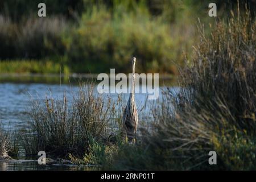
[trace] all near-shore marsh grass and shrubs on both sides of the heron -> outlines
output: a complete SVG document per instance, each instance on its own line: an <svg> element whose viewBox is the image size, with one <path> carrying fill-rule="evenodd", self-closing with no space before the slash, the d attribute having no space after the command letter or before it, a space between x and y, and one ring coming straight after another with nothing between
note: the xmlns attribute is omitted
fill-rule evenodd
<svg viewBox="0 0 256 182"><path fill-rule="evenodd" d="M44 150L108 170L255 169L255 31L254 16L239 7L216 20L209 35L200 24L200 41L179 70L180 93L175 97L166 87L162 101L139 112L135 146L121 137L122 98L94 95L90 82L81 83L73 101L64 93L63 100L32 102L29 130L20 131L19 142L27 155ZM15 148L7 144L0 130L2 154ZM216 151L218 165L209 165L209 151Z"/></svg>

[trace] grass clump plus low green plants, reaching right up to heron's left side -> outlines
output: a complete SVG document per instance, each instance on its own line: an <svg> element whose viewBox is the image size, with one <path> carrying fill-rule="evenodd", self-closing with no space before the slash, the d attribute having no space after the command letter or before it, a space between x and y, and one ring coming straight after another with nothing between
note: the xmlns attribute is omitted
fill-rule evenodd
<svg viewBox="0 0 256 182"><path fill-rule="evenodd" d="M73 101L46 98L31 103L30 122L20 130L26 155L46 151L48 158L65 158L75 164L103 166L129 145L122 138L123 98L113 102L94 92L94 82L80 83ZM141 111L144 107L142 107ZM141 127L147 127L143 116ZM138 138L140 136L138 135Z"/></svg>

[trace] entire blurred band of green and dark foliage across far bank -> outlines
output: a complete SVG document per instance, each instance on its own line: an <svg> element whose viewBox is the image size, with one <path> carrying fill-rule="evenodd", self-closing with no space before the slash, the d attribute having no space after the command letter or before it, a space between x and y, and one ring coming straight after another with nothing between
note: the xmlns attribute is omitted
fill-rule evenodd
<svg viewBox="0 0 256 182"><path fill-rule="evenodd" d="M39 18L38 3L47 17ZM217 1L218 15L236 6ZM241 2L243 6L245 1ZM246 1L247 2L247 1ZM208 24L210 1L192 0L3 0L0 1L0 60L51 59L71 72L176 73L183 51L197 42L197 17ZM255 1L249 1L255 10ZM4 69L3 69L3 72Z"/></svg>

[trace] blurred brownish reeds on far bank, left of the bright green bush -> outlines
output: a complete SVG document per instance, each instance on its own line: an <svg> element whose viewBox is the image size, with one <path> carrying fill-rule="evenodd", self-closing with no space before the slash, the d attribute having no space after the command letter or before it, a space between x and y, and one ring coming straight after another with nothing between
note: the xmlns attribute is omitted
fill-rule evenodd
<svg viewBox="0 0 256 182"><path fill-rule="evenodd" d="M68 23L55 16L19 24L0 15L0 59L44 59L65 52L62 41Z"/></svg>

